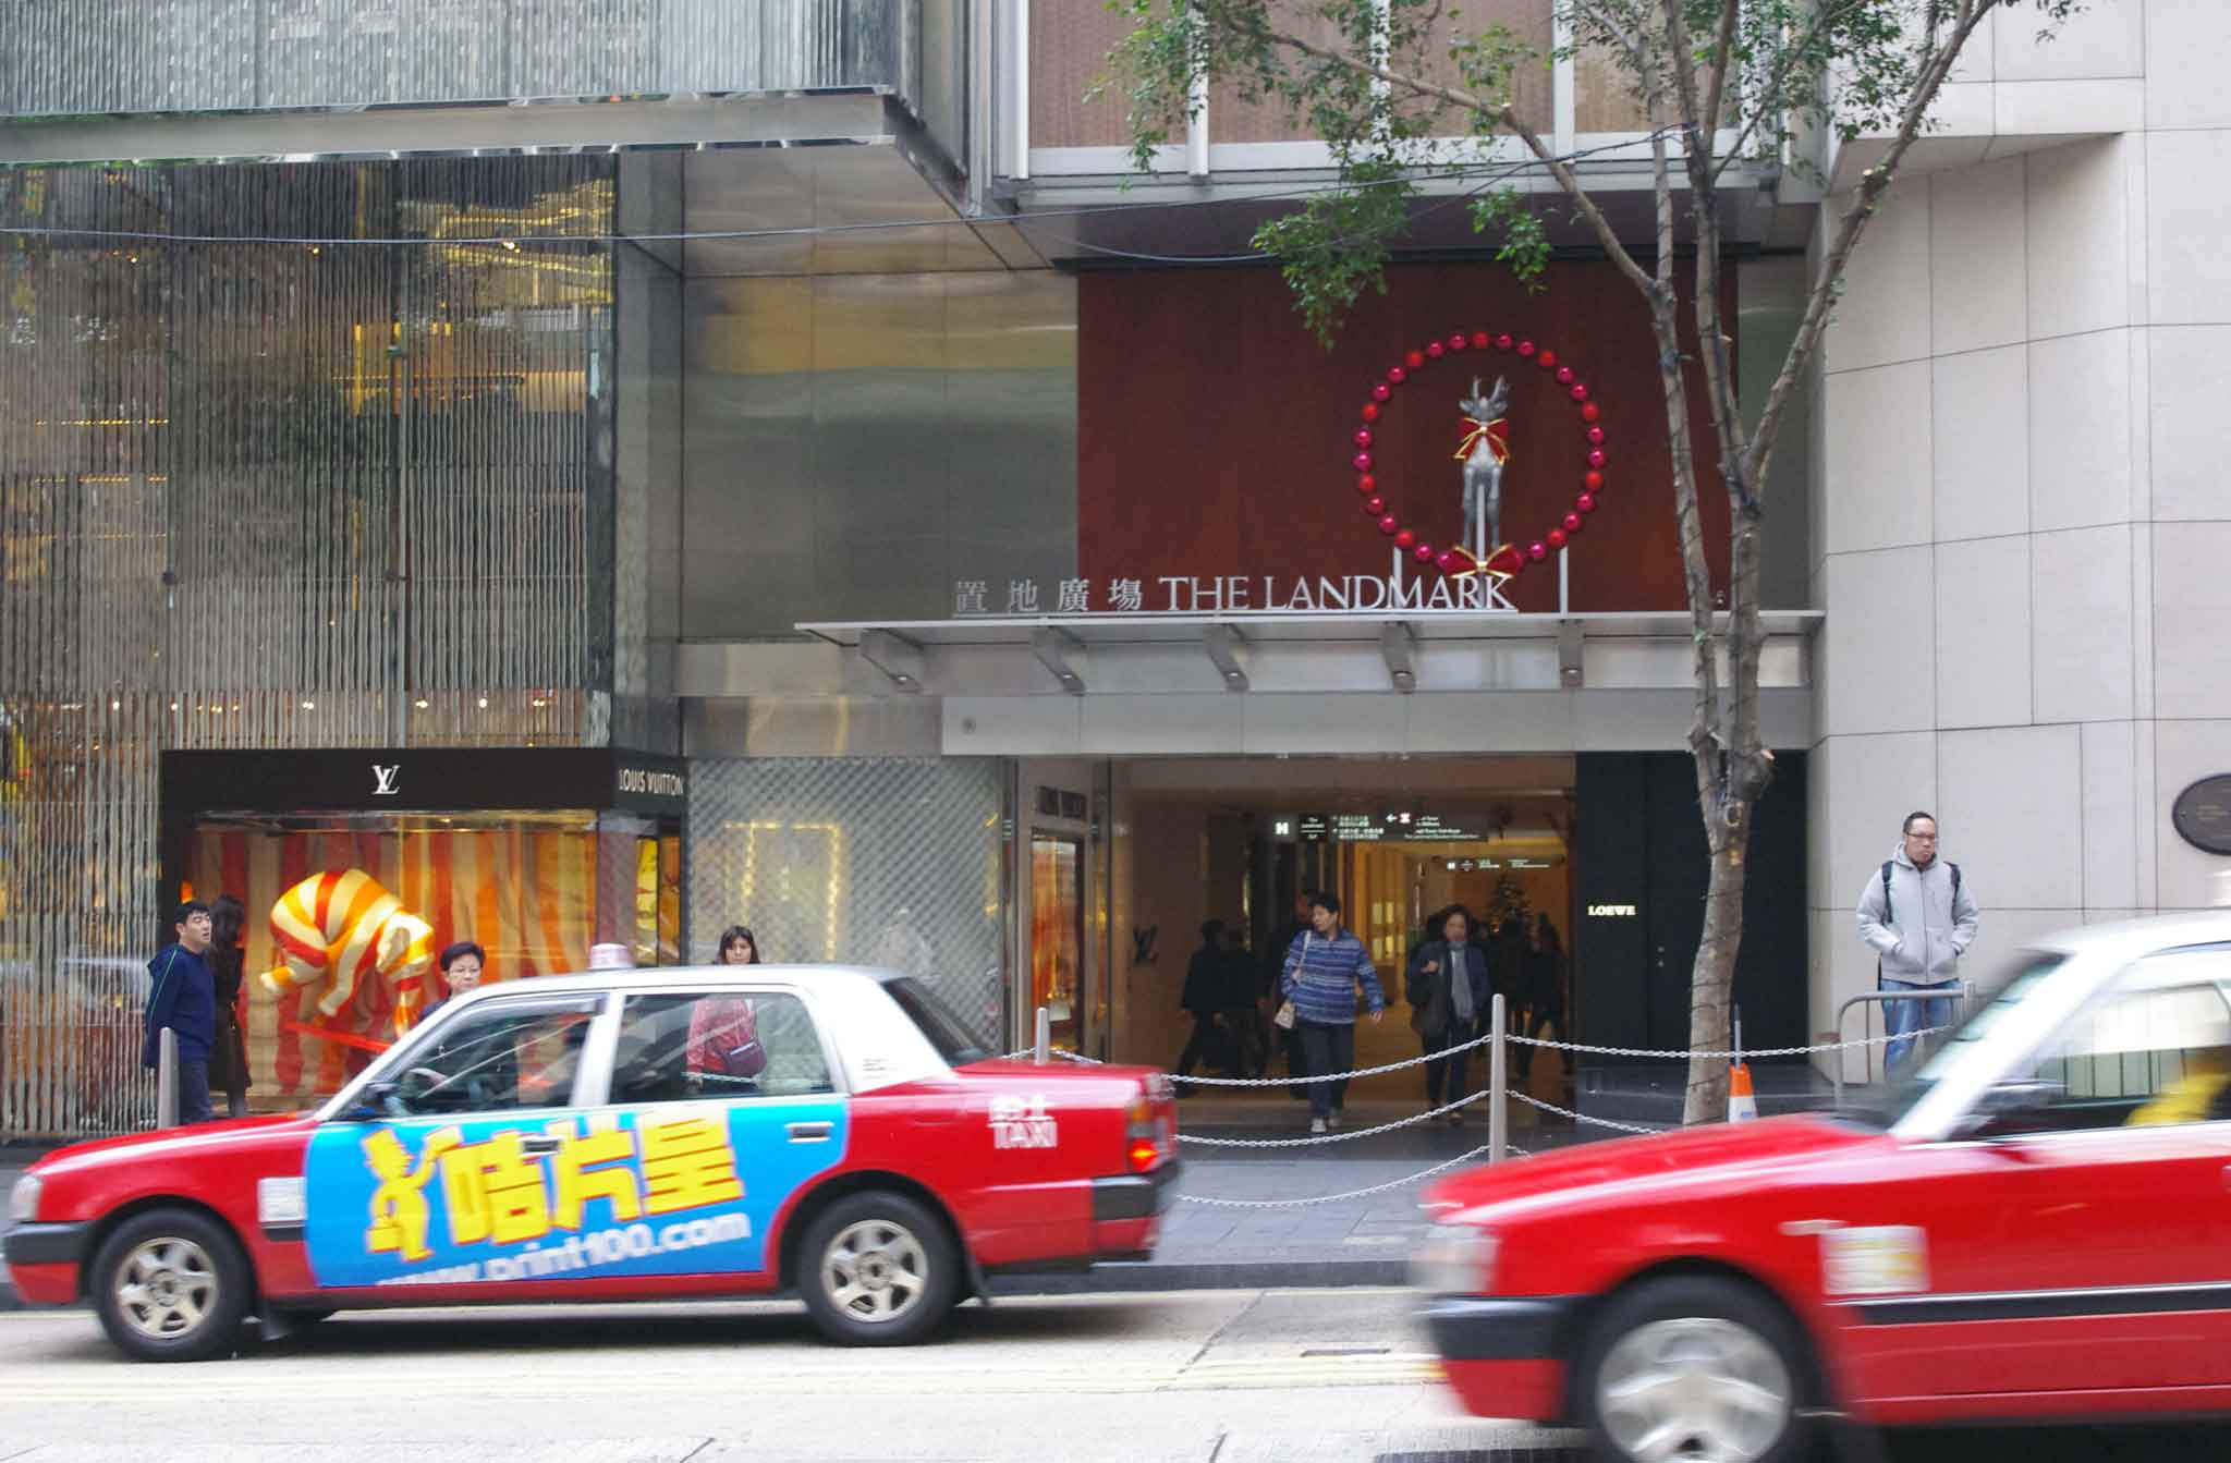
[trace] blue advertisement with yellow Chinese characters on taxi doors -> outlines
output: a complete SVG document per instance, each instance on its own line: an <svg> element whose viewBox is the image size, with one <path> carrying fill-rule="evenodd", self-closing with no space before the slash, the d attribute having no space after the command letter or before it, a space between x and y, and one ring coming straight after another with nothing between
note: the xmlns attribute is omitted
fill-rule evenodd
<svg viewBox="0 0 2231 1463"><path fill-rule="evenodd" d="M750 1273L843 1160L841 1097L332 1122L310 1140L323 1287Z"/></svg>

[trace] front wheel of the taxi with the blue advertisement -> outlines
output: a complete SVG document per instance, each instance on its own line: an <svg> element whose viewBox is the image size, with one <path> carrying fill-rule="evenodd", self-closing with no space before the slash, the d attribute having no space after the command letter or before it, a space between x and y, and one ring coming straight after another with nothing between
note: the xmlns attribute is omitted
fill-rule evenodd
<svg viewBox="0 0 2231 1463"><path fill-rule="evenodd" d="M248 1260L232 1233L190 1209L116 1227L87 1280L100 1329L134 1360L210 1360L248 1316Z"/></svg>

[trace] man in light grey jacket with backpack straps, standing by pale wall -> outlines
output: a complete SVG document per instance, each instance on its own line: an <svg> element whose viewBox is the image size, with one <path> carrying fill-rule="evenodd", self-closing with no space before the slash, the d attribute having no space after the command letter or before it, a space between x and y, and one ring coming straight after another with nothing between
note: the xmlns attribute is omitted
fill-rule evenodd
<svg viewBox="0 0 2231 1463"><path fill-rule="evenodd" d="M1937 818L1916 812L1883 868L1858 894L1858 937L1879 957L1881 990L1941 990L1959 979L1959 957L1974 943L1981 919L1959 865L1937 856ZM1883 1001L1883 1030L1892 1037L1883 1070L1894 1073L1914 1046L1914 1033L1952 1021L1952 997Z"/></svg>

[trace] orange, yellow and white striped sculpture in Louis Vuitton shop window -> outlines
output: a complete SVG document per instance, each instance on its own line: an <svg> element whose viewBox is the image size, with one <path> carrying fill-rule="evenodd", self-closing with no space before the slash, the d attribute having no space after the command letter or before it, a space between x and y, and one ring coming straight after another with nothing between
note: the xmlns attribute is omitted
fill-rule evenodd
<svg viewBox="0 0 2231 1463"><path fill-rule="evenodd" d="M272 905L272 943L279 963L263 972L272 995L328 979L317 1010L328 1021L373 975L395 988L395 1030L411 1030L426 1004L433 963L433 926L402 908L395 894L364 870L310 874Z"/></svg>

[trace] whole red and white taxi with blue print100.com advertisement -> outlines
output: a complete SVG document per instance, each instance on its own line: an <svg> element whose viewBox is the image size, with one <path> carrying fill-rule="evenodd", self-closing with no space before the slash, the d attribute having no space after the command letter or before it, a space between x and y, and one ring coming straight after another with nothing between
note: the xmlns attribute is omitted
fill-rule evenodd
<svg viewBox="0 0 2231 1463"><path fill-rule="evenodd" d="M1151 1251L1169 1079L993 1059L910 977L727 966L489 986L323 1108L60 1149L7 1267L143 1360L337 1309L796 1289L910 1343L999 1269Z"/></svg>

